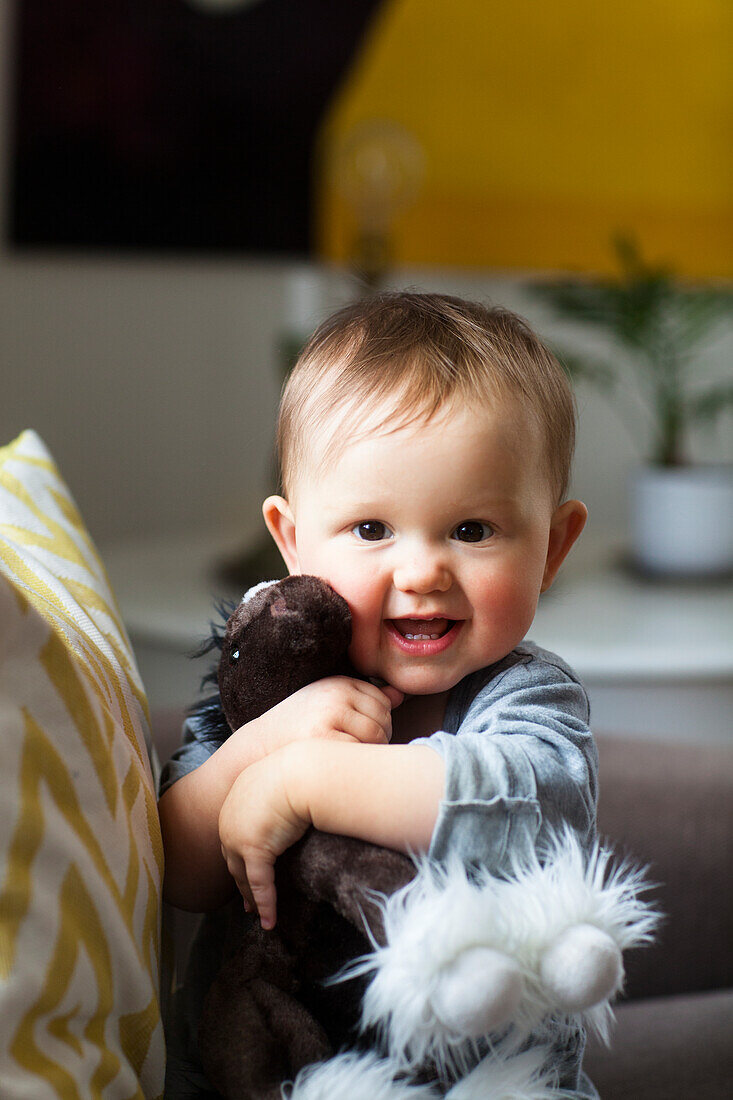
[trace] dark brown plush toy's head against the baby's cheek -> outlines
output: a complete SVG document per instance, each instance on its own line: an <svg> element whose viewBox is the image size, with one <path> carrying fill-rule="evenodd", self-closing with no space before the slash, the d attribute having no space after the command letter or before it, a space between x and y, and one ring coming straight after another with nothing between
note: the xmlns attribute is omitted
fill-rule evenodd
<svg viewBox="0 0 733 1100"><path fill-rule="evenodd" d="M319 578L286 576L250 588L211 644L221 648L216 681L229 728L314 680L354 675L350 641L349 605Z"/></svg>

